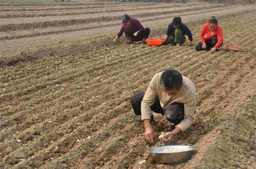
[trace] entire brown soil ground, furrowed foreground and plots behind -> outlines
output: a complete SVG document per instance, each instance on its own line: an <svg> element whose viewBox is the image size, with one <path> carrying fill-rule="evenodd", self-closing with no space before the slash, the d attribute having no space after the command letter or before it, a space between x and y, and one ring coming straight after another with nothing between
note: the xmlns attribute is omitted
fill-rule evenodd
<svg viewBox="0 0 256 169"><path fill-rule="evenodd" d="M44 4L54 6L26 8ZM124 38L113 43L121 12L102 21L112 24L103 32L98 23L76 18L72 24L61 19L29 23L24 18L24 23L3 24L1 38L11 38L0 40L0 168L255 168L255 6L188 5L182 8L194 10L179 13L170 7L164 8L170 14L161 15L156 9L163 6L157 4L148 16L134 15L152 28L151 37L162 37L171 18L180 15L196 43L201 26L216 15L224 31L219 52L196 52L189 42L180 48L127 45ZM243 49L226 51L227 43ZM155 142L148 145L143 124L133 123L130 97L145 91L153 75L167 68L195 82L196 118L187 131L163 144L158 135L170 124L156 114ZM197 150L187 162L160 165L146 149L163 145L194 145ZM139 164L141 160L146 162Z"/></svg>

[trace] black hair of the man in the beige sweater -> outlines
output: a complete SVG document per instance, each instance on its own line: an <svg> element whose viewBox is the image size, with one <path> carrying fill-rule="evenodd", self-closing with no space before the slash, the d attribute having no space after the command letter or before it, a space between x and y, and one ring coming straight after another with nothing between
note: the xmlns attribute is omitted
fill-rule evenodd
<svg viewBox="0 0 256 169"><path fill-rule="evenodd" d="M182 86L182 75L177 70L167 69L162 73L160 83L164 90L180 90Z"/></svg>

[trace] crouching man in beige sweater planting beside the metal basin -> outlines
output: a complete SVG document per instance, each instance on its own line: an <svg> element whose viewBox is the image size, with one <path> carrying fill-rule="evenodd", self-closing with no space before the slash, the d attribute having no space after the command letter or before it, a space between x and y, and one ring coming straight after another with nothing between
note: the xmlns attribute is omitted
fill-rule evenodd
<svg viewBox="0 0 256 169"><path fill-rule="evenodd" d="M170 132L164 133L163 142L169 142L184 132L194 121L196 111L196 87L187 77L176 70L165 70L154 75L144 93L132 96L131 103L138 117L135 122L144 122L145 137L153 144L154 131L151 111L162 114L171 123Z"/></svg>

